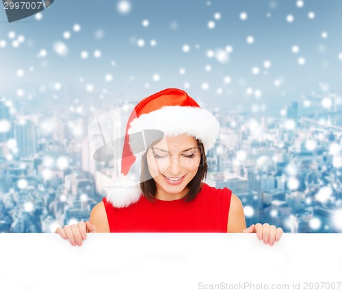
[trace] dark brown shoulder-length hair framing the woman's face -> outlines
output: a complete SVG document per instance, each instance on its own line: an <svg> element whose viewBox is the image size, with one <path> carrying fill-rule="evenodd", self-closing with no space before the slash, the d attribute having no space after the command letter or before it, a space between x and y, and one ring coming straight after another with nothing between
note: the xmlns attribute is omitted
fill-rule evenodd
<svg viewBox="0 0 342 292"><path fill-rule="evenodd" d="M205 156L205 148L203 143L196 139L198 148L200 149L200 164L198 165L198 171L194 178L187 184L189 190L183 197L185 202L190 202L196 198L196 195L200 192L202 187L202 182L207 178L207 171L208 171L208 164L207 164L207 157ZM155 141L151 147L157 144L159 141ZM150 148L148 148L150 149ZM142 156L142 172L140 176L140 188L142 193L146 197L146 199L150 201L155 201L155 197L157 195L157 185L155 184L155 180L150 175L150 171L148 171L148 164L147 164L147 152L144 153Z"/></svg>

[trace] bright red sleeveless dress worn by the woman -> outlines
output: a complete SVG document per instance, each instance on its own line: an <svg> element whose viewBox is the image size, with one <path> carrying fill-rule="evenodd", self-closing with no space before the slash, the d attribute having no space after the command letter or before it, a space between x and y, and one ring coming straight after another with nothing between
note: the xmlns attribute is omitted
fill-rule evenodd
<svg viewBox="0 0 342 292"><path fill-rule="evenodd" d="M144 196L127 208L103 198L110 232L227 232L231 190L202 184L196 199L150 202Z"/></svg>

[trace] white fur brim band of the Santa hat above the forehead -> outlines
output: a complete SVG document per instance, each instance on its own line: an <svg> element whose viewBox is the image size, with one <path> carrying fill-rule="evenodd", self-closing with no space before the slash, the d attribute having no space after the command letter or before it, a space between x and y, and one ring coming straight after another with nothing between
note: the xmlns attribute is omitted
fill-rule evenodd
<svg viewBox="0 0 342 292"><path fill-rule="evenodd" d="M161 130L165 136L188 134L199 139L207 152L215 144L218 137L219 123L209 111L192 106L163 106L131 121L128 134L146 129ZM130 145L133 153L137 153L134 145Z"/></svg>

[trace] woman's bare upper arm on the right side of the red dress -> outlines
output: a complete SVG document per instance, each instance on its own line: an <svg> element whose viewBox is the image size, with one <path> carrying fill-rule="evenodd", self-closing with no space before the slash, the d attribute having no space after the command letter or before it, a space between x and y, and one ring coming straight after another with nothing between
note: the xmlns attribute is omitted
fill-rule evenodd
<svg viewBox="0 0 342 292"><path fill-rule="evenodd" d="M240 199L232 193L227 231L229 233L242 233L242 230L244 229L246 229L244 207L242 206Z"/></svg>

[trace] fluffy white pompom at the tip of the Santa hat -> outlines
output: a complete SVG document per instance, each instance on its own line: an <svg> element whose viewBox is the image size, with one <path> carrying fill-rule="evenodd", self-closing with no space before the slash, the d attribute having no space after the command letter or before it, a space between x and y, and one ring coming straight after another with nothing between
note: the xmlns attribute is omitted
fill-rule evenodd
<svg viewBox="0 0 342 292"><path fill-rule="evenodd" d="M105 191L107 202L117 208L124 208L139 201L142 196L139 182L132 182L127 176L120 175Z"/></svg>

